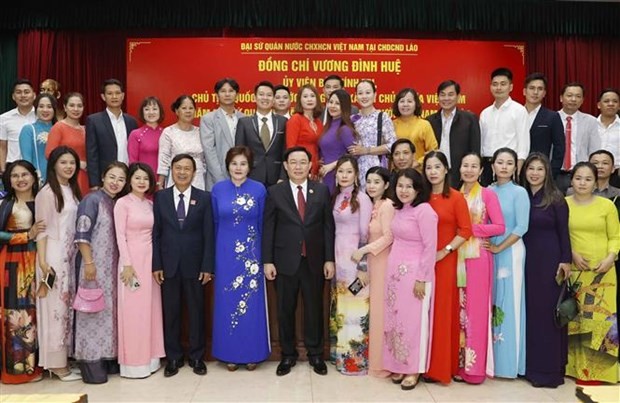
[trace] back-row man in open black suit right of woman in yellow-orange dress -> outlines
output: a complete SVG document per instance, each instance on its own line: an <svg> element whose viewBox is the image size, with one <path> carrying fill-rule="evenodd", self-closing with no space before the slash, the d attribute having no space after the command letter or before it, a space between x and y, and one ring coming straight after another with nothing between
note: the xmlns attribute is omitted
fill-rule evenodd
<svg viewBox="0 0 620 403"><path fill-rule="evenodd" d="M461 179L461 159L470 152L480 154L480 125L471 112L457 108L461 86L446 80L437 87L441 109L427 120L431 123L439 150L450 163L450 186L457 188Z"/></svg>

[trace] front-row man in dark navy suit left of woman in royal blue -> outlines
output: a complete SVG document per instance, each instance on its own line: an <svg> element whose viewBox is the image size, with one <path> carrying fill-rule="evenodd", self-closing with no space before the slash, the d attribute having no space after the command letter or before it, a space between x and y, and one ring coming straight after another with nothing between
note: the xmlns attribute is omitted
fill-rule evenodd
<svg viewBox="0 0 620 403"><path fill-rule="evenodd" d="M189 366L205 375L204 285L213 277L214 239L211 197L191 186L196 162L189 154L172 159L174 186L155 194L153 213L153 276L162 289L164 348L168 363L164 376L183 366L181 301L189 322Z"/></svg>

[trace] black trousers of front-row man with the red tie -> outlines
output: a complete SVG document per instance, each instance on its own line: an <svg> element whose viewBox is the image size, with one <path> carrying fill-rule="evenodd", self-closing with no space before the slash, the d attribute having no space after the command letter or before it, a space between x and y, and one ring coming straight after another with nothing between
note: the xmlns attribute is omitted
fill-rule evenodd
<svg viewBox="0 0 620 403"><path fill-rule="evenodd" d="M323 356L323 268L312 270L303 257L294 275L276 276L278 329L282 357L297 358L295 346L295 310L301 289L304 301L304 345L308 357Z"/></svg>

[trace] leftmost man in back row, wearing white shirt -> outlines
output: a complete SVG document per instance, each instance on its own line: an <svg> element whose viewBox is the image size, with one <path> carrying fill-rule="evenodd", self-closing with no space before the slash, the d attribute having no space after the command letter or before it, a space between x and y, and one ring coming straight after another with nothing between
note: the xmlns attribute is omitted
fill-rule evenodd
<svg viewBox="0 0 620 403"><path fill-rule="evenodd" d="M33 106L36 93L29 80L17 80L11 97L17 107L0 115L0 174L4 173L7 163L21 158L19 134L24 125L36 120Z"/></svg>

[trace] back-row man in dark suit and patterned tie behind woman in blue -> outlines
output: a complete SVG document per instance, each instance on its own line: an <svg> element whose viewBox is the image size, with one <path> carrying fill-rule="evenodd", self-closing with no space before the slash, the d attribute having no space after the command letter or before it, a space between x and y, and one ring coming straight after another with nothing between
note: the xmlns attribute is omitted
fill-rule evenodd
<svg viewBox="0 0 620 403"><path fill-rule="evenodd" d="M269 187L286 174L282 168L286 150L286 118L272 112L273 84L261 81L254 87L256 113L239 119L236 146L248 146L254 153L250 178Z"/></svg>

